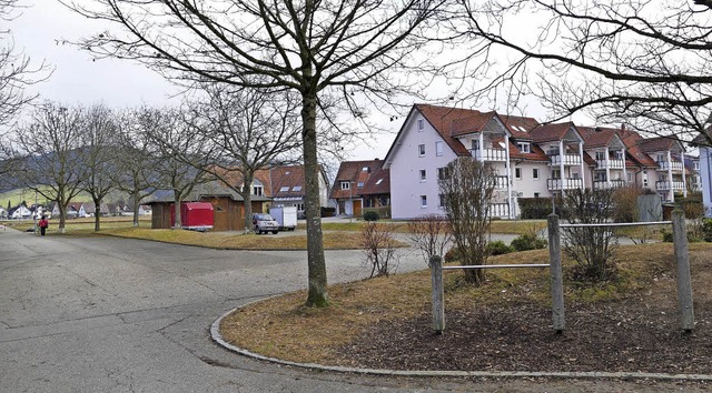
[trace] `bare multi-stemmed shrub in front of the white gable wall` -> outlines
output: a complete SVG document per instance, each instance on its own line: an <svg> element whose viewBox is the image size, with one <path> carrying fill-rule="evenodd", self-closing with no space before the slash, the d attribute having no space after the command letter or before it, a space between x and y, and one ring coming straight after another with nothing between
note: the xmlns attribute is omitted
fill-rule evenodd
<svg viewBox="0 0 712 393"><path fill-rule="evenodd" d="M487 238L492 222L488 208L496 184L492 168L469 157L461 157L446 167L447 174L438 180L447 220L453 231L463 265L487 264ZM465 280L479 285L485 280L483 269L466 269Z"/></svg>

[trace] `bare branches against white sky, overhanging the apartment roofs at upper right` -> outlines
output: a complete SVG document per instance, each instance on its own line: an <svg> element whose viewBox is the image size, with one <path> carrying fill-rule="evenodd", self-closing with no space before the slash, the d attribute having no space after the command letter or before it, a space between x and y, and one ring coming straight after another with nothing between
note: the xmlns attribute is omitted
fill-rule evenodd
<svg viewBox="0 0 712 393"><path fill-rule="evenodd" d="M710 1L462 3L466 28L453 27L475 39L472 70L492 77L477 93L508 85L516 97L538 97L557 119L584 111L688 140L712 125ZM512 59L505 70L503 52Z"/></svg>

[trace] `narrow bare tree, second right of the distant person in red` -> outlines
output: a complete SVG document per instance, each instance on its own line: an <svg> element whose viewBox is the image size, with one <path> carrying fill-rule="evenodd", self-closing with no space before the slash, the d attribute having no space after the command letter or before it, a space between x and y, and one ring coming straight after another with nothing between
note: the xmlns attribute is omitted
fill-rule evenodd
<svg viewBox="0 0 712 393"><path fill-rule="evenodd" d="M93 230L99 231L101 202L116 188L112 172L117 170L115 115L103 104L89 108L86 112L85 128L80 130L83 147L78 151L86 177L81 190L91 195L95 205Z"/></svg>

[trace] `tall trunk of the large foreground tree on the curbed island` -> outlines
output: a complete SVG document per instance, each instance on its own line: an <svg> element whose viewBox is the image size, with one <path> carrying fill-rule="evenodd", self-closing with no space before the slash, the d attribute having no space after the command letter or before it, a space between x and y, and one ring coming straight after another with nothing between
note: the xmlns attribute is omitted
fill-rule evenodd
<svg viewBox="0 0 712 393"><path fill-rule="evenodd" d="M319 164L316 141L316 89L301 94L301 141L304 143L304 171L306 180L305 210L307 215L307 263L309 292L307 306L328 305L326 292L326 259L322 233L319 205Z"/></svg>

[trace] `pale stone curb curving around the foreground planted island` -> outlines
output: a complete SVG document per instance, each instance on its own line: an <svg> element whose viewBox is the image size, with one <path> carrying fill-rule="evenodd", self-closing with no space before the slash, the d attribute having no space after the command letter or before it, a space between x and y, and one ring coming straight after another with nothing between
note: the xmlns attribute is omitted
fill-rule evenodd
<svg viewBox="0 0 712 393"><path fill-rule="evenodd" d="M263 299L264 300L264 299ZM258 300L258 301L263 301ZM258 302L255 301L255 302ZM235 308L225 314L220 315L210 326L210 337L218 345L225 347L228 351L238 353L244 356L253 357L256 360L290 365L295 367L318 370L318 371L332 371L339 373L355 373L364 375L384 375L384 376L475 376L475 377L554 377L554 379L612 379L612 380L657 380L657 381L712 381L712 375L709 374L666 374L666 373L643 373L643 372L534 372L534 371L405 371L405 370L384 370L384 369L356 369L356 367L343 367L335 365L324 365L317 363L298 363L285 361L281 359L269 357L260 355L258 353L250 352L243 347L233 345L222 339L220 334L220 323L225 318L239 310L240 308L251 304L254 302L246 303L241 306Z"/></svg>

